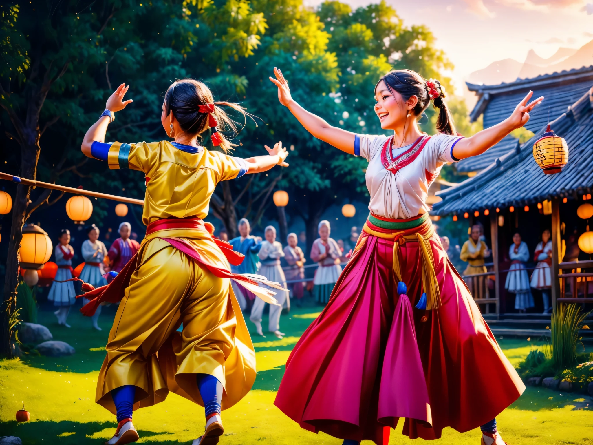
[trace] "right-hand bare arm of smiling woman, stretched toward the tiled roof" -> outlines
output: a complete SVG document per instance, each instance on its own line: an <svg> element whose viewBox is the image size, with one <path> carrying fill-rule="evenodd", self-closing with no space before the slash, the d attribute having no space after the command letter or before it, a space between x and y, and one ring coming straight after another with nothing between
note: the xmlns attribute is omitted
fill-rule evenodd
<svg viewBox="0 0 593 445"><path fill-rule="evenodd" d="M530 104L527 104L531 96L533 96L533 91L527 93L527 96L515 107L515 111L512 112L511 116L499 124L483 129L470 138L461 139L453 148L453 156L457 159L465 159L482 154L514 129L525 126L529 120L529 112L537 104L540 104L544 98L540 96L534 101L531 101Z"/></svg>

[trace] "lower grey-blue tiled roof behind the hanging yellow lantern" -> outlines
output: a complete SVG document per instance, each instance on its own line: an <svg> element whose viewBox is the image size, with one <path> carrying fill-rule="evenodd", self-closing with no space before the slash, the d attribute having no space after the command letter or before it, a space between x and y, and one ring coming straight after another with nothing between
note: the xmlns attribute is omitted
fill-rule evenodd
<svg viewBox="0 0 593 445"><path fill-rule="evenodd" d="M460 185L437 192L443 201L432 214L506 208L541 202L555 196L590 193L593 187L593 88L566 113L551 122L557 135L566 139L568 164L557 174L544 174L533 158L533 144L545 131L541 126L529 141L511 150L485 170Z"/></svg>

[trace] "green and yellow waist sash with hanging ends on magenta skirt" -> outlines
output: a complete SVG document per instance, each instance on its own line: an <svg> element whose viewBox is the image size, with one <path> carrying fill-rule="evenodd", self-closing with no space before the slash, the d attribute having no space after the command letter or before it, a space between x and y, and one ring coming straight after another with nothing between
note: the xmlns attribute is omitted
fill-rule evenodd
<svg viewBox="0 0 593 445"><path fill-rule="evenodd" d="M368 236L375 236L385 240L393 240L393 275L397 281L406 282L401 275L400 244L409 241L418 243L420 263L422 264L422 292L426 293L426 310L441 307L441 290L436 281L435 260L429 242L435 227L428 214L418 215L409 220L391 220L370 214L362 227L361 238L356 244L355 252L361 249Z"/></svg>

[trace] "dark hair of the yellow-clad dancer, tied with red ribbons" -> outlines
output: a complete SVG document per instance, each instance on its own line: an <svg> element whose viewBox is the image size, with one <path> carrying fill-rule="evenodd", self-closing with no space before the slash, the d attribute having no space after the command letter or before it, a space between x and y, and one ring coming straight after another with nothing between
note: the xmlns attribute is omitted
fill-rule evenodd
<svg viewBox="0 0 593 445"><path fill-rule="evenodd" d="M200 105L214 104L212 113L200 112ZM218 128L221 130L230 129L237 134L235 122L228 117L227 113L218 105L231 107L235 111L246 112L243 107L232 102L215 102L212 91L205 84L193 79L176 80L171 84L165 93L165 111L167 116L173 112L173 116L179 122L181 129L190 135L200 135L205 132L209 125L209 116L212 114L218 122ZM228 152L236 144L231 144L222 134L220 146L222 150Z"/></svg>

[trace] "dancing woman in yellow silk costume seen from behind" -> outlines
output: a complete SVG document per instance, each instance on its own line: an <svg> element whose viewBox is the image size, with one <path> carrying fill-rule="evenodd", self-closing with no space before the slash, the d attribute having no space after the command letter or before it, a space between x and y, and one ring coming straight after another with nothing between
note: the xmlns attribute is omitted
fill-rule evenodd
<svg viewBox="0 0 593 445"><path fill-rule="evenodd" d="M272 291L258 287L257 276L229 272L229 262L238 264L243 256L213 239L212 225L202 220L218 182L288 166L288 152L278 142L266 146L269 155L227 155L232 144L217 126L236 128L219 106L245 113L237 104L214 102L208 87L195 80L176 81L165 94L161 122L173 142L105 143L113 113L132 102L123 101L128 88L122 84L110 96L82 142L88 157L107 161L110 169L142 171L146 182L142 220L148 227L140 250L109 285L86 293L91 301L81 309L91 315L103 301L121 301L97 380L97 403L118 421L106 444L138 440L132 410L162 402L173 391L205 406L206 430L193 445L213 445L224 431L221 409L241 400L256 376L253 344L229 278L277 302ZM208 128L224 152L199 144ZM176 332L181 322L183 332Z"/></svg>

